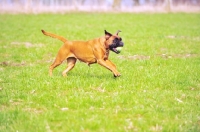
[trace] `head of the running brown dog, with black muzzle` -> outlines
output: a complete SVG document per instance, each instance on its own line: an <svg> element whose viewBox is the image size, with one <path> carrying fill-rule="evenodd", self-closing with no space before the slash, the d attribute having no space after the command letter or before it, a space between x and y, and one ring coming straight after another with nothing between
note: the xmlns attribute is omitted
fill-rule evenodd
<svg viewBox="0 0 200 132"><path fill-rule="evenodd" d="M105 30L106 47L117 54L120 53L120 51L117 50L117 47L124 46L124 43L122 42L122 38L118 36L119 32L121 31L118 30L116 34L112 35L111 33Z"/></svg>

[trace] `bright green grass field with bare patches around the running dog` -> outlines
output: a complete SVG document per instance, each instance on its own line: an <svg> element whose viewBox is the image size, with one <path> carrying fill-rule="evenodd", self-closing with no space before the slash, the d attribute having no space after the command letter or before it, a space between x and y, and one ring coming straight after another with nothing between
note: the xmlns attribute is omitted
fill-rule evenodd
<svg viewBox="0 0 200 132"><path fill-rule="evenodd" d="M200 14L0 15L1 132L200 131ZM48 75L62 43L122 32L122 74L78 62Z"/></svg>

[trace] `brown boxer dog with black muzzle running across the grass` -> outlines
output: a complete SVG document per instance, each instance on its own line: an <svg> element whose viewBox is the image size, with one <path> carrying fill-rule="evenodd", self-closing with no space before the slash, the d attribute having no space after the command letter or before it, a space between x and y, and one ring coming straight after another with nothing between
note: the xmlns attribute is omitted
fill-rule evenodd
<svg viewBox="0 0 200 132"><path fill-rule="evenodd" d="M116 34L112 35L105 30L105 36L103 37L88 41L69 41L62 36L42 30L44 35L57 38L64 43L58 51L55 61L49 67L50 76L52 76L55 67L67 60L67 68L62 72L62 75L66 76L78 59L88 65L98 63L113 72L114 77L119 77L120 73L117 71L116 66L108 59L109 50L118 54L119 51L116 48L124 46L121 37L118 36L119 32L118 30Z"/></svg>

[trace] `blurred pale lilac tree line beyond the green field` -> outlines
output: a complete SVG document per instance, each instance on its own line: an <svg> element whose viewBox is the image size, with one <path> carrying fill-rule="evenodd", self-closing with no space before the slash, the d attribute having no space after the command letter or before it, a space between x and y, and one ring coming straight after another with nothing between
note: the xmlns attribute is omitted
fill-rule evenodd
<svg viewBox="0 0 200 132"><path fill-rule="evenodd" d="M164 5L165 9L170 11L172 6L179 5L200 8L200 0L0 0L0 8L18 6L26 10L39 9L38 7L71 7L73 9L95 7L100 10L102 9L100 7L103 7L109 10L120 10L121 7L130 9L146 5L152 7Z"/></svg>

